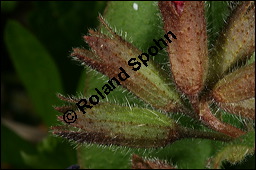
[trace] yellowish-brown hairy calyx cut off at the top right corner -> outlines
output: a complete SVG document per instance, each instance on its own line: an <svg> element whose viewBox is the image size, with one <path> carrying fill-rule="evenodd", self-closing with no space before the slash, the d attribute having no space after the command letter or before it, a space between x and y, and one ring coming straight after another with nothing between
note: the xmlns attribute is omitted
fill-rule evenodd
<svg viewBox="0 0 256 170"><path fill-rule="evenodd" d="M253 1L241 1L227 21L211 55L209 82L228 72L238 60L251 56L255 51L255 4Z"/></svg>

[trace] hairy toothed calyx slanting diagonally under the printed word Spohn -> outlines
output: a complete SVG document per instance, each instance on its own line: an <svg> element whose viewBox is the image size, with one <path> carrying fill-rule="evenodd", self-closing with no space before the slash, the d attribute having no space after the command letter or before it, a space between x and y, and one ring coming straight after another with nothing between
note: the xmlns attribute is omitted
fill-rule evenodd
<svg viewBox="0 0 256 170"><path fill-rule="evenodd" d="M90 30L91 35L84 38L93 52L75 48L71 55L110 78L117 78L122 68L126 73L126 79L119 81L122 86L155 108L179 110L182 104L178 92L150 61L150 56L112 32L102 18L100 21L113 37Z"/></svg>

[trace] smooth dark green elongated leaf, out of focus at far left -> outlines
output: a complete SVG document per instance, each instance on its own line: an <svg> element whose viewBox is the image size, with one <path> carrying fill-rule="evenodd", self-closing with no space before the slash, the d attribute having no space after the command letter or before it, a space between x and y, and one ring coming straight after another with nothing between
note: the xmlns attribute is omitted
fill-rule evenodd
<svg viewBox="0 0 256 170"><path fill-rule="evenodd" d="M36 37L16 21L8 21L5 42L36 112L48 126L52 125L56 122L52 109L52 105L58 101L55 94L62 92L54 61Z"/></svg>

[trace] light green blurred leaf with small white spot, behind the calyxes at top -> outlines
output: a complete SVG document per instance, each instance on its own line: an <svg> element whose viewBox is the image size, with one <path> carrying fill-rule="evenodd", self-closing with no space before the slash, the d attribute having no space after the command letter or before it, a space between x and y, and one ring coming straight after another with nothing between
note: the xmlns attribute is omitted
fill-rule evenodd
<svg viewBox="0 0 256 170"><path fill-rule="evenodd" d="M155 44L153 39L158 40L165 34L155 1L109 2L103 17L119 35L143 52ZM158 63L168 62L164 50L153 59Z"/></svg>

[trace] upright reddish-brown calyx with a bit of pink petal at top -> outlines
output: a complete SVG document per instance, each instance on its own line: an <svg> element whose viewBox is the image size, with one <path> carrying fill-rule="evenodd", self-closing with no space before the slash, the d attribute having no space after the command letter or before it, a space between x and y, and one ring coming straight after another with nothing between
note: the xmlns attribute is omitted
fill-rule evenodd
<svg viewBox="0 0 256 170"><path fill-rule="evenodd" d="M171 70L177 86L194 96L203 88L208 69L207 34L202 1L160 1L165 32L177 40L169 45Z"/></svg>

